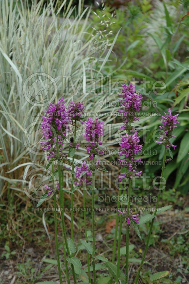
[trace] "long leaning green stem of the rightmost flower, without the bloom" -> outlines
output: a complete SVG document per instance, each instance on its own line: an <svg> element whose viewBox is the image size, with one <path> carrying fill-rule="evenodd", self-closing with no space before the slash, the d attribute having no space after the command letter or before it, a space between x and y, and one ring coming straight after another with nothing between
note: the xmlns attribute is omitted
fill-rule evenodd
<svg viewBox="0 0 189 284"><path fill-rule="evenodd" d="M165 160L166 160L166 152L167 152L167 148L165 147L164 156L163 156L163 165L162 165L162 170L161 170L161 177L163 177L163 174L164 174ZM162 188L162 185L161 185L161 183L160 183L160 184L159 184L159 191L158 191L158 195L157 195L157 202L156 202L156 206L155 206L154 216L156 216L156 214L157 214L157 208L158 208L158 204L159 204L159 198L160 198L160 194L161 194L161 188ZM137 274L136 274L136 278L135 278L135 282L134 282L135 284L138 283L138 278L139 278L139 275L140 275L140 270L141 270L142 265L143 265L144 260L145 260L146 252L147 252L148 245L149 245L149 240L150 240L150 237L151 237L151 232L152 232L152 229L153 229L154 220L155 220L155 218L153 218L152 221L151 221L151 225L150 225L150 229L149 229L149 233L148 233L148 239L147 239L147 242L146 242L146 247L145 247L145 250L144 250L144 254L143 254L143 256L142 256L142 260L141 260L141 262L140 262L139 269L138 269Z"/></svg>

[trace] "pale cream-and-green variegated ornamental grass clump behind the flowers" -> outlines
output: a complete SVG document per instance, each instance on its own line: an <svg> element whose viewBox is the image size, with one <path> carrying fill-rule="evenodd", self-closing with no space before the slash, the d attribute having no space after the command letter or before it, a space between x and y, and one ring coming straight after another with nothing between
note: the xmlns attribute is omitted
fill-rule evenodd
<svg viewBox="0 0 189 284"><path fill-rule="evenodd" d="M100 78L97 76L103 75L102 68L107 63L117 38L115 35L115 40L110 43L108 37L99 39L95 31L92 37L88 33L90 7L81 11L80 1L80 15L76 14L73 18L72 14L76 10L70 7L71 2L63 1L56 13L52 1L47 7L42 6L43 1L34 1L31 9L26 9L22 1L21 7L18 3L13 5L13 1L9 5L8 0L0 3L0 141L4 160L1 164L0 183L3 188L5 181L9 182L10 187L18 191L18 194L22 190L17 184L33 168L31 161L39 160L39 156L28 153L22 136L30 123L41 121L41 117L32 116L32 112L42 112L44 109L26 101L22 91L24 81L36 72L49 74L57 84L55 101L64 93L67 105L78 97L74 98L73 93L67 95L67 81L65 82L63 75L71 75L73 84L77 87L83 74L95 74L98 89ZM64 6L64 17L60 19L59 13ZM101 100L106 97L108 87L106 83ZM86 92L91 91L92 86L87 82ZM115 99L115 95L111 99ZM85 100L85 94L79 96L79 101ZM107 108L108 106L99 110L97 96L87 96L86 112L106 111ZM112 111L113 108L108 110ZM113 117L105 118L105 124L111 124L112 121ZM106 137L109 136L108 130L105 129ZM33 139L32 143L35 145L36 137L33 135L30 139ZM82 160L87 157L83 147L80 147L78 155ZM40 157L42 160L44 158L45 156Z"/></svg>

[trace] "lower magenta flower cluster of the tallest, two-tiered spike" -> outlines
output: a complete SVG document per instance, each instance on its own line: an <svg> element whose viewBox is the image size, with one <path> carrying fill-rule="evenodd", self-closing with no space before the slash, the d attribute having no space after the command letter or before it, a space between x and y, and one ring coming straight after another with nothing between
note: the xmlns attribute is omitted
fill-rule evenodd
<svg viewBox="0 0 189 284"><path fill-rule="evenodd" d="M128 167L128 175L125 173L119 176L120 180L125 178L126 176L132 176L132 173L136 176L140 176L142 171L136 173L136 162L141 162L141 158L136 159L136 155L140 155L142 153L142 144L138 144L140 142L139 136L137 136L137 131L134 134L126 134L125 136L121 136L122 140L119 143L120 151L119 151L119 164L121 166Z"/></svg>

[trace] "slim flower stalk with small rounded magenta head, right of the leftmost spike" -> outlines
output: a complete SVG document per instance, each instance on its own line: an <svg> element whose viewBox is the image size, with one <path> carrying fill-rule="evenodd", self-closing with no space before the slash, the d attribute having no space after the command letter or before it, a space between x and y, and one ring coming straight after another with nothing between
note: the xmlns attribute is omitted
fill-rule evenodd
<svg viewBox="0 0 189 284"><path fill-rule="evenodd" d="M83 103L74 103L70 102L67 109L67 115L70 120L70 123L74 125L74 135L72 137L72 141L70 141L71 149L74 149L72 152L72 182L71 182L71 192L73 192L74 182L73 182L73 171L74 171L74 160L75 160L75 148L78 149L79 144L75 144L76 142L76 130L77 130L77 121L80 121L84 112ZM74 239L74 216L73 216L73 194L71 194L71 239Z"/></svg>

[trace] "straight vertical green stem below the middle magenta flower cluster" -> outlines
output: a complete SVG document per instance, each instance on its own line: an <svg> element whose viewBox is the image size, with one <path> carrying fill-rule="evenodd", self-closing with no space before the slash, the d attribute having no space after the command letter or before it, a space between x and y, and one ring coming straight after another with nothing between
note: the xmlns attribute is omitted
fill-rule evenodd
<svg viewBox="0 0 189 284"><path fill-rule="evenodd" d="M94 159L93 159L94 164ZM94 226L94 191L95 191L95 171L92 171L92 231L93 231L93 253L92 253L92 267L93 267L93 283L96 284L95 271L95 226Z"/></svg>

